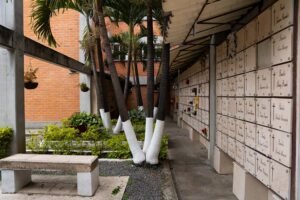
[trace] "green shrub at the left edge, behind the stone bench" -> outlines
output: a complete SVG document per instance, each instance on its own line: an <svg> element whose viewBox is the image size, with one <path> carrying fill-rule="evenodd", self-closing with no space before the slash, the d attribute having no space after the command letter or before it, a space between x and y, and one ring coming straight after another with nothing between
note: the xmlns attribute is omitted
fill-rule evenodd
<svg viewBox="0 0 300 200"><path fill-rule="evenodd" d="M0 158L8 155L9 144L13 137L11 128L0 128Z"/></svg>

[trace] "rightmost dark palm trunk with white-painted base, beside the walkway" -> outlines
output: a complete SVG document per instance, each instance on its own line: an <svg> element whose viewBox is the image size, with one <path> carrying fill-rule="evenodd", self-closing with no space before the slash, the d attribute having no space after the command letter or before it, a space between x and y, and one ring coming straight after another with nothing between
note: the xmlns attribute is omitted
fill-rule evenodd
<svg viewBox="0 0 300 200"><path fill-rule="evenodd" d="M165 110L167 106L168 98L168 87L169 87L169 60L170 60L170 44L164 44L163 47L163 68L162 68L162 79L160 83L160 95L157 120L151 143L148 147L146 154L146 161L150 164L158 164L158 156L160 152L161 139L164 132L165 126Z"/></svg>

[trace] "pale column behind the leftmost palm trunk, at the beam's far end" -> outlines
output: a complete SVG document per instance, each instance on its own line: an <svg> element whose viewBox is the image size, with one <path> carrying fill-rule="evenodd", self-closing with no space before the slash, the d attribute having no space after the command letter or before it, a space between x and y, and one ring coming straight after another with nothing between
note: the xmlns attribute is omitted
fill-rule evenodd
<svg viewBox="0 0 300 200"><path fill-rule="evenodd" d="M82 40L84 28L86 26L86 19L83 15L79 16L79 40ZM79 61L84 63L84 51L80 48L79 50ZM92 85L91 85L91 77L86 74L79 74L79 83L86 83L86 85L90 88L88 92L79 93L80 96L80 112L91 113L91 104L92 104ZM79 89L80 90L80 89Z"/></svg>

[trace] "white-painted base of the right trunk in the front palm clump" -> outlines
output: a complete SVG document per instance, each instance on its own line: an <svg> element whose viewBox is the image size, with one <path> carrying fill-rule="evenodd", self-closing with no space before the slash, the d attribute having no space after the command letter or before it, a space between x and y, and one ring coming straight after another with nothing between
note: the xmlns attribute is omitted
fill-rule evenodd
<svg viewBox="0 0 300 200"><path fill-rule="evenodd" d="M165 121L156 120L153 137L146 154L146 162L151 165L158 164L158 156L160 152L161 139L165 128Z"/></svg>

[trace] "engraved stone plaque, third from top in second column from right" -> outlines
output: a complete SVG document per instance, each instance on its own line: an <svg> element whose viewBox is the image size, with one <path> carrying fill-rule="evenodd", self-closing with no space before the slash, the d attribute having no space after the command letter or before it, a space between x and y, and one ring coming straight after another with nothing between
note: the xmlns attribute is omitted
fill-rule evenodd
<svg viewBox="0 0 300 200"><path fill-rule="evenodd" d="M271 68L258 70L256 83L257 96L271 96Z"/></svg>

